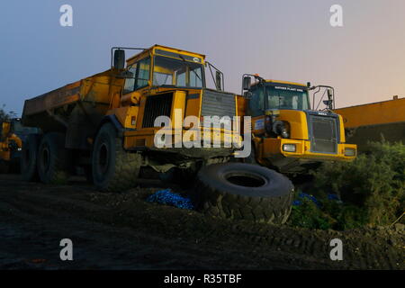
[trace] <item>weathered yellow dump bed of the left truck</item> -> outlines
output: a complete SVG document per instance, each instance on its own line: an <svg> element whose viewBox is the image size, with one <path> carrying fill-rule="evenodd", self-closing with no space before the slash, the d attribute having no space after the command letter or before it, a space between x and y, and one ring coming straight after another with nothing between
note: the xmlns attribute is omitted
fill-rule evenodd
<svg viewBox="0 0 405 288"><path fill-rule="evenodd" d="M120 101L123 83L124 79L107 70L28 99L23 125L63 132L67 148L86 148L85 139L94 137L112 102Z"/></svg>

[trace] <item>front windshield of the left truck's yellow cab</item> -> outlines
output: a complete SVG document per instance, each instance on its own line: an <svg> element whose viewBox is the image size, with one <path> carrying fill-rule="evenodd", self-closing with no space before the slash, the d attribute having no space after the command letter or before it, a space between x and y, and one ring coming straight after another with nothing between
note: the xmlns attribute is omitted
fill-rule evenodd
<svg viewBox="0 0 405 288"><path fill-rule="evenodd" d="M153 85L203 86L202 64L179 58L155 57Z"/></svg>

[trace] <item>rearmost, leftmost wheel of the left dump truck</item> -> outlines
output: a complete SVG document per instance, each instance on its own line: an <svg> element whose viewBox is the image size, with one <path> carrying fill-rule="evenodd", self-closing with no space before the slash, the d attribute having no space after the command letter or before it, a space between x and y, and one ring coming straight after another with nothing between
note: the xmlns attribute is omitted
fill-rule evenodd
<svg viewBox="0 0 405 288"><path fill-rule="evenodd" d="M24 181L39 181L40 176L37 170L38 148L40 146L40 135L30 134L23 142L20 157L20 172Z"/></svg>

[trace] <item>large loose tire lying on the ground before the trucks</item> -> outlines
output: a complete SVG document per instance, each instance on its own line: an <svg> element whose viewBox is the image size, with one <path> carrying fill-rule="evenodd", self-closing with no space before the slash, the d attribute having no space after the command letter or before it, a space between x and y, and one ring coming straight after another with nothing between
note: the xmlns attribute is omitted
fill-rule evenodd
<svg viewBox="0 0 405 288"><path fill-rule="evenodd" d="M292 210L293 184L263 166L213 164L198 173L192 199L197 210L211 216L284 224Z"/></svg>

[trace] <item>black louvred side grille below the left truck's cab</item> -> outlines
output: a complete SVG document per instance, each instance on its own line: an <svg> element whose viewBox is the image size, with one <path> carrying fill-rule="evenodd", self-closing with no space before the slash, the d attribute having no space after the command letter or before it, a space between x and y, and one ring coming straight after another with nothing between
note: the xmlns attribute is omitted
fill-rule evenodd
<svg viewBox="0 0 405 288"><path fill-rule="evenodd" d="M158 94L148 96L145 103L142 127L154 127L155 119L158 116L170 117L172 110L173 93Z"/></svg>

